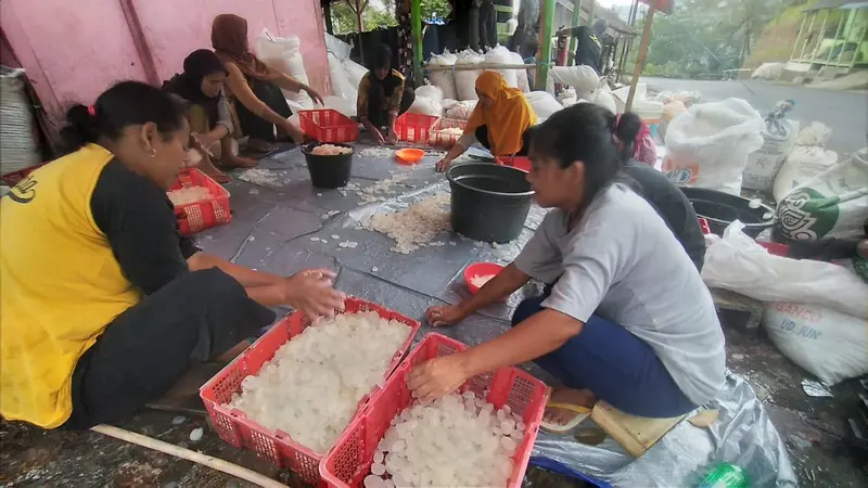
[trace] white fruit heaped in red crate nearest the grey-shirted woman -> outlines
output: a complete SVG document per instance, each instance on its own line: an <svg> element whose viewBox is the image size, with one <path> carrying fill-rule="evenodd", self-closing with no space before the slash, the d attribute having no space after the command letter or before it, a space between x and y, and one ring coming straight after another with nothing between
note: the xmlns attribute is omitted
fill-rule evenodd
<svg viewBox="0 0 868 488"><path fill-rule="evenodd" d="M417 402L392 424L365 488L506 487L525 431L509 406L495 411L472 391Z"/></svg>

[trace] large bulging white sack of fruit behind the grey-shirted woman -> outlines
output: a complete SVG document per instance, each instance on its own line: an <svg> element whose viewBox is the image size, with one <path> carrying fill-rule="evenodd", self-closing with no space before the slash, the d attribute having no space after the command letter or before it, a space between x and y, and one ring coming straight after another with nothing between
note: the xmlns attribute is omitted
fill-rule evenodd
<svg viewBox="0 0 868 488"><path fill-rule="evenodd" d="M666 130L663 171L676 184L739 195L748 156L763 146L765 127L741 99L693 105Z"/></svg>

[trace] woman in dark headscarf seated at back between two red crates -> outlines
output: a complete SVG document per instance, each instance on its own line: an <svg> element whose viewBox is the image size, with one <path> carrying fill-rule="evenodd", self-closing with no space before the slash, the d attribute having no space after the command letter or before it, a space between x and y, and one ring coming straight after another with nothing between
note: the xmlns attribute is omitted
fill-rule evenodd
<svg viewBox="0 0 868 488"><path fill-rule="evenodd" d="M371 69L359 81L356 113L359 121L379 144L394 144L395 119L407 112L416 100L412 88L405 87L404 75L392 69L392 50L386 44L376 48Z"/></svg>

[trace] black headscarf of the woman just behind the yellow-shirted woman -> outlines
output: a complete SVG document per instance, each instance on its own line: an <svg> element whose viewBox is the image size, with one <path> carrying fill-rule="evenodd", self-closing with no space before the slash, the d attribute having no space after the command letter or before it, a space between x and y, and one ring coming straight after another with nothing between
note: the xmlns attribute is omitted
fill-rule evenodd
<svg viewBox="0 0 868 488"><path fill-rule="evenodd" d="M209 49L199 49L183 60L183 73L176 74L163 84L163 89L190 103L201 105L208 116L208 126L214 129L220 118L220 95L207 97L202 92L202 79L214 73L226 73L226 66Z"/></svg>

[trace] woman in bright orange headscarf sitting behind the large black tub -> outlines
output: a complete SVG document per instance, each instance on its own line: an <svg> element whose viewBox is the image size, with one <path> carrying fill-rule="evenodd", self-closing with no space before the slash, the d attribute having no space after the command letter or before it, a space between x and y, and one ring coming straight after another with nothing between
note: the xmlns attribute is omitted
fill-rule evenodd
<svg viewBox="0 0 868 488"><path fill-rule="evenodd" d="M480 102L470 114L464 134L437 163L437 171L449 168L475 141L494 156L527 154L527 129L536 124L536 114L524 93L508 87L499 73L483 72L476 78L476 94Z"/></svg>

